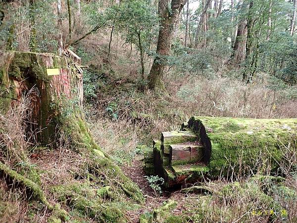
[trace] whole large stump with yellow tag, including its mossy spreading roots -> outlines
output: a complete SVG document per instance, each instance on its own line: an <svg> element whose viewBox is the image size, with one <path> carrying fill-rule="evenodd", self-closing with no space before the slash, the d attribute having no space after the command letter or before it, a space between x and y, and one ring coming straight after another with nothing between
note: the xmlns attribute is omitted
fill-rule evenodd
<svg viewBox="0 0 297 223"><path fill-rule="evenodd" d="M28 196L22 201L28 203L29 209L24 216L46 216L42 222L129 222L128 209L139 208L145 199L140 188L94 141L82 112L82 73L78 65L69 57L32 52L5 52L4 59L0 59L1 115L5 116L7 108L17 108L20 99L35 90L34 97L28 100L36 128L25 131L38 132L32 137L33 145L42 144L60 154L47 154L35 166L29 149L23 149L20 159L12 162L10 154L14 155L14 150L8 153L10 148L1 145L0 155L9 156L0 156L0 186L3 178L5 187L22 188ZM0 133L6 134L1 127ZM42 151L36 149L35 156L42 156ZM71 157L65 162L67 153ZM146 161L152 163L153 159ZM2 191L9 195L14 190L0 190L0 203ZM31 207L32 200L39 209Z"/></svg>

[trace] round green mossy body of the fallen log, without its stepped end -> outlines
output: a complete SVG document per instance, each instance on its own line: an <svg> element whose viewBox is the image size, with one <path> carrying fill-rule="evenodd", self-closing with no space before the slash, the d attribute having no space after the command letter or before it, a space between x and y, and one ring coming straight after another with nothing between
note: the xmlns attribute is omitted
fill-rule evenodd
<svg viewBox="0 0 297 223"><path fill-rule="evenodd" d="M280 173L287 146L297 150L297 119L192 117L187 129L204 146L203 161L212 176ZM269 168L269 169L267 169Z"/></svg>

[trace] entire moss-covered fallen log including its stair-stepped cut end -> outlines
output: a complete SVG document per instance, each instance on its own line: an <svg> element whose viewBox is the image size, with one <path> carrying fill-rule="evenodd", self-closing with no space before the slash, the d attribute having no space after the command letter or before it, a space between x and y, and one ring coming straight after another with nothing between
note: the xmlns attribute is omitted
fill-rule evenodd
<svg viewBox="0 0 297 223"><path fill-rule="evenodd" d="M173 187L205 177L282 174L296 152L295 118L193 116L180 131L162 132L160 140L153 140L145 167L148 175L163 177L165 186Z"/></svg>

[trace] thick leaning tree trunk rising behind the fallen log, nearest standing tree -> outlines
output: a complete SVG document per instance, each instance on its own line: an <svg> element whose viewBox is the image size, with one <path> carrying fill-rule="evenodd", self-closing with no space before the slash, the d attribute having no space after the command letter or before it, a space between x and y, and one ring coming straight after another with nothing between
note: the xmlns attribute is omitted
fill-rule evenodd
<svg viewBox="0 0 297 223"><path fill-rule="evenodd" d="M158 14L161 20L156 50L157 56L154 58L148 74L148 88L151 90L164 89L162 77L167 63L167 56L170 54L171 40L185 4L186 1L184 0L171 0L169 9L168 0L159 0Z"/></svg>

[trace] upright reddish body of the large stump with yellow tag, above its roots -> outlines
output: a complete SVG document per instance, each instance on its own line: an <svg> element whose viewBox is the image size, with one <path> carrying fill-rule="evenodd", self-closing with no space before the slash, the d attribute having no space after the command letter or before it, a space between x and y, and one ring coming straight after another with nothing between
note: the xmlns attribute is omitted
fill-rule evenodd
<svg viewBox="0 0 297 223"><path fill-rule="evenodd" d="M49 144L63 120L80 116L83 101L79 60L51 54L8 51L1 53L0 110L5 111L25 94L31 98L33 114L28 117L36 142ZM30 119L30 120L29 120Z"/></svg>

